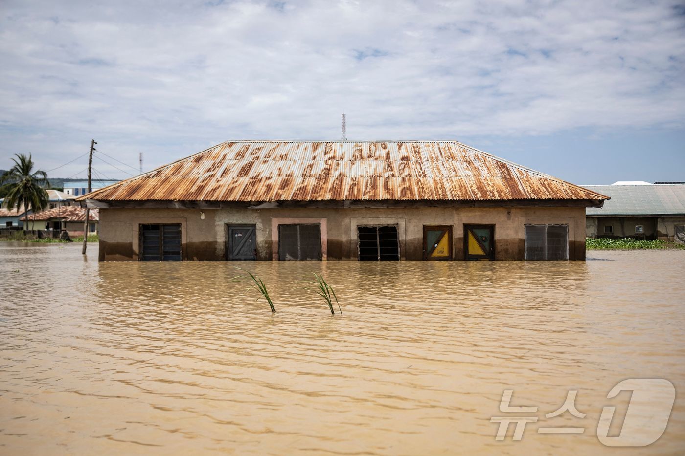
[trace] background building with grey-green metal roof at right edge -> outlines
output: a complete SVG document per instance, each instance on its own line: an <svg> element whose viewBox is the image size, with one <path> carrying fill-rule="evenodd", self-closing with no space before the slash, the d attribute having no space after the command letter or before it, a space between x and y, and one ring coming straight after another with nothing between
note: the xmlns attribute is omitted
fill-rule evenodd
<svg viewBox="0 0 685 456"><path fill-rule="evenodd" d="M611 197L586 210L588 238L685 242L685 183L616 182L585 186Z"/></svg>

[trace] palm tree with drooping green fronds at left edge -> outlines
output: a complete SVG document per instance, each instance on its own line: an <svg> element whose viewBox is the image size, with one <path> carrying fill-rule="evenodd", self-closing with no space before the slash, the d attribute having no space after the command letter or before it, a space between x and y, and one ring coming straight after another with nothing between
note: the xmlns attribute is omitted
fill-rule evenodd
<svg viewBox="0 0 685 456"><path fill-rule="evenodd" d="M12 210L24 207L26 212L27 223L24 225L28 229L28 213L29 210L36 212L42 210L47 206L47 192L45 187L50 183L47 180L45 171L34 170L34 162L31 160L31 154L27 157L23 153L14 154L16 159L12 158L14 166L6 171L0 177L0 186L7 193L5 194L5 207Z"/></svg>

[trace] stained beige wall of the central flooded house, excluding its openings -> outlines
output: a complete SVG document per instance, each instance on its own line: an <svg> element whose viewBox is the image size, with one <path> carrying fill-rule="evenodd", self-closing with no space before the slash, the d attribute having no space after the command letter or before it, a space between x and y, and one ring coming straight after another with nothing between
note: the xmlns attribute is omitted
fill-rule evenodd
<svg viewBox="0 0 685 456"><path fill-rule="evenodd" d="M523 259L524 225L569 225L569 259L585 259L584 207L384 209L101 209L100 261L137 261L138 227L180 223L188 261L226 259L226 226L256 225L257 258L277 259L279 223L321 223L323 259L357 259L358 225L397 225L402 259L423 259L423 225L453 227L453 258L464 258L464 224L495 225L495 259Z"/></svg>

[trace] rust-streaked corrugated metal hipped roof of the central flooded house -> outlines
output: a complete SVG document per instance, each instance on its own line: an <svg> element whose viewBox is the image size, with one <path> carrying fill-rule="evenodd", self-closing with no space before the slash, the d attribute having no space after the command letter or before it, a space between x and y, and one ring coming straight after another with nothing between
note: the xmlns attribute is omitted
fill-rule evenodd
<svg viewBox="0 0 685 456"><path fill-rule="evenodd" d="M605 199L456 141L229 141L79 200Z"/></svg>

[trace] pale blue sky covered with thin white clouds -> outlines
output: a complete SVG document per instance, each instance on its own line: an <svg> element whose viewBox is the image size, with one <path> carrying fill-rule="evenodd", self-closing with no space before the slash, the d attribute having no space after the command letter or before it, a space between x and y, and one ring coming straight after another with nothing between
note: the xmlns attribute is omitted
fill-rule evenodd
<svg viewBox="0 0 685 456"><path fill-rule="evenodd" d="M679 5L680 4L680 5ZM454 139L685 181L682 1L0 0L0 168L121 179L229 139ZM96 153L96 157L97 157ZM49 173L84 177L86 157Z"/></svg>

